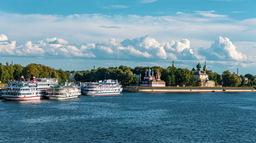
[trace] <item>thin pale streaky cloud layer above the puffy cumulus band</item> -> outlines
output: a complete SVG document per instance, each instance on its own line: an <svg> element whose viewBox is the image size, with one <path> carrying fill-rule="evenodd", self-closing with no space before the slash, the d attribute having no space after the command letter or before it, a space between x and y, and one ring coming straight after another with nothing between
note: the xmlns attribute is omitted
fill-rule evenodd
<svg viewBox="0 0 256 143"><path fill-rule="evenodd" d="M212 41L218 35L235 36L236 39L246 37L248 41L254 41L256 36L253 19L236 21L216 15L204 17L198 14L203 13L199 11L191 14L186 12L168 16L102 14L64 16L1 13L0 31L10 38L16 39L19 45L27 41L35 42L49 37L62 38L70 43L97 43L99 39L106 41L106 39L115 38L122 41L126 38L150 35L153 38L158 38L159 41L185 37L201 43L201 41ZM205 13L215 14L213 11ZM55 42L57 43L57 41Z"/></svg>

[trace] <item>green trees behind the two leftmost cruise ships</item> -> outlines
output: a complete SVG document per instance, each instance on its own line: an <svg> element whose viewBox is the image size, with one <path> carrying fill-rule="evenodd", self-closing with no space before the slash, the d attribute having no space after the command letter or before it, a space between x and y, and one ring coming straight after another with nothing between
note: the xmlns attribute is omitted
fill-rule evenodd
<svg viewBox="0 0 256 143"><path fill-rule="evenodd" d="M61 69L55 70L52 67L44 66L42 64L28 64L23 67L20 64L3 65L0 63L0 80L7 83L10 80L19 80L19 76L23 75L25 79L34 75L35 77L58 78L58 83L70 81L70 72Z"/></svg>

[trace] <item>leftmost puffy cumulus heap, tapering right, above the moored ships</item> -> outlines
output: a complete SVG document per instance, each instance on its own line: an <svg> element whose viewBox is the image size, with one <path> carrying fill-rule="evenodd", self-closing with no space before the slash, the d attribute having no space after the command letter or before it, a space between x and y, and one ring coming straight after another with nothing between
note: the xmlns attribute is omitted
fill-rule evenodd
<svg viewBox="0 0 256 143"><path fill-rule="evenodd" d="M7 39L5 35L2 37L4 37L2 39ZM94 54L82 52L81 49L59 38L47 38L37 43L28 41L20 46L16 46L16 41L0 41L0 53L20 57L95 57Z"/></svg>

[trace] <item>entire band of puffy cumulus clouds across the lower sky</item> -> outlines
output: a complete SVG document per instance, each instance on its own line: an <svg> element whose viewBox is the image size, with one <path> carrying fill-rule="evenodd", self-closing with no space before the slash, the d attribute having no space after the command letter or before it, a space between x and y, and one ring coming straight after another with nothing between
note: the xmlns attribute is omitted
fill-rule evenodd
<svg viewBox="0 0 256 143"><path fill-rule="evenodd" d="M2 39L8 39L3 36ZM246 57L237 51L236 46L228 38L219 36L209 48L191 48L188 39L180 41L159 42L150 36L125 39L121 42L110 38L107 42L71 44L60 38L46 38L33 43L16 46L16 41L0 41L0 54L20 57L66 57L98 60L158 61L158 60L203 60L212 61L246 61L254 57Z"/></svg>

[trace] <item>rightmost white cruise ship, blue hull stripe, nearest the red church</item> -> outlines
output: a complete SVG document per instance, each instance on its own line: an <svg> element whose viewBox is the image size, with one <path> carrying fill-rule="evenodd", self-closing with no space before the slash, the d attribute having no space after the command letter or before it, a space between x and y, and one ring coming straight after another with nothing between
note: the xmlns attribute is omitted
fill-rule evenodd
<svg viewBox="0 0 256 143"><path fill-rule="evenodd" d="M89 82L83 87L85 95L115 95L123 90L118 80L100 80L98 82Z"/></svg>

